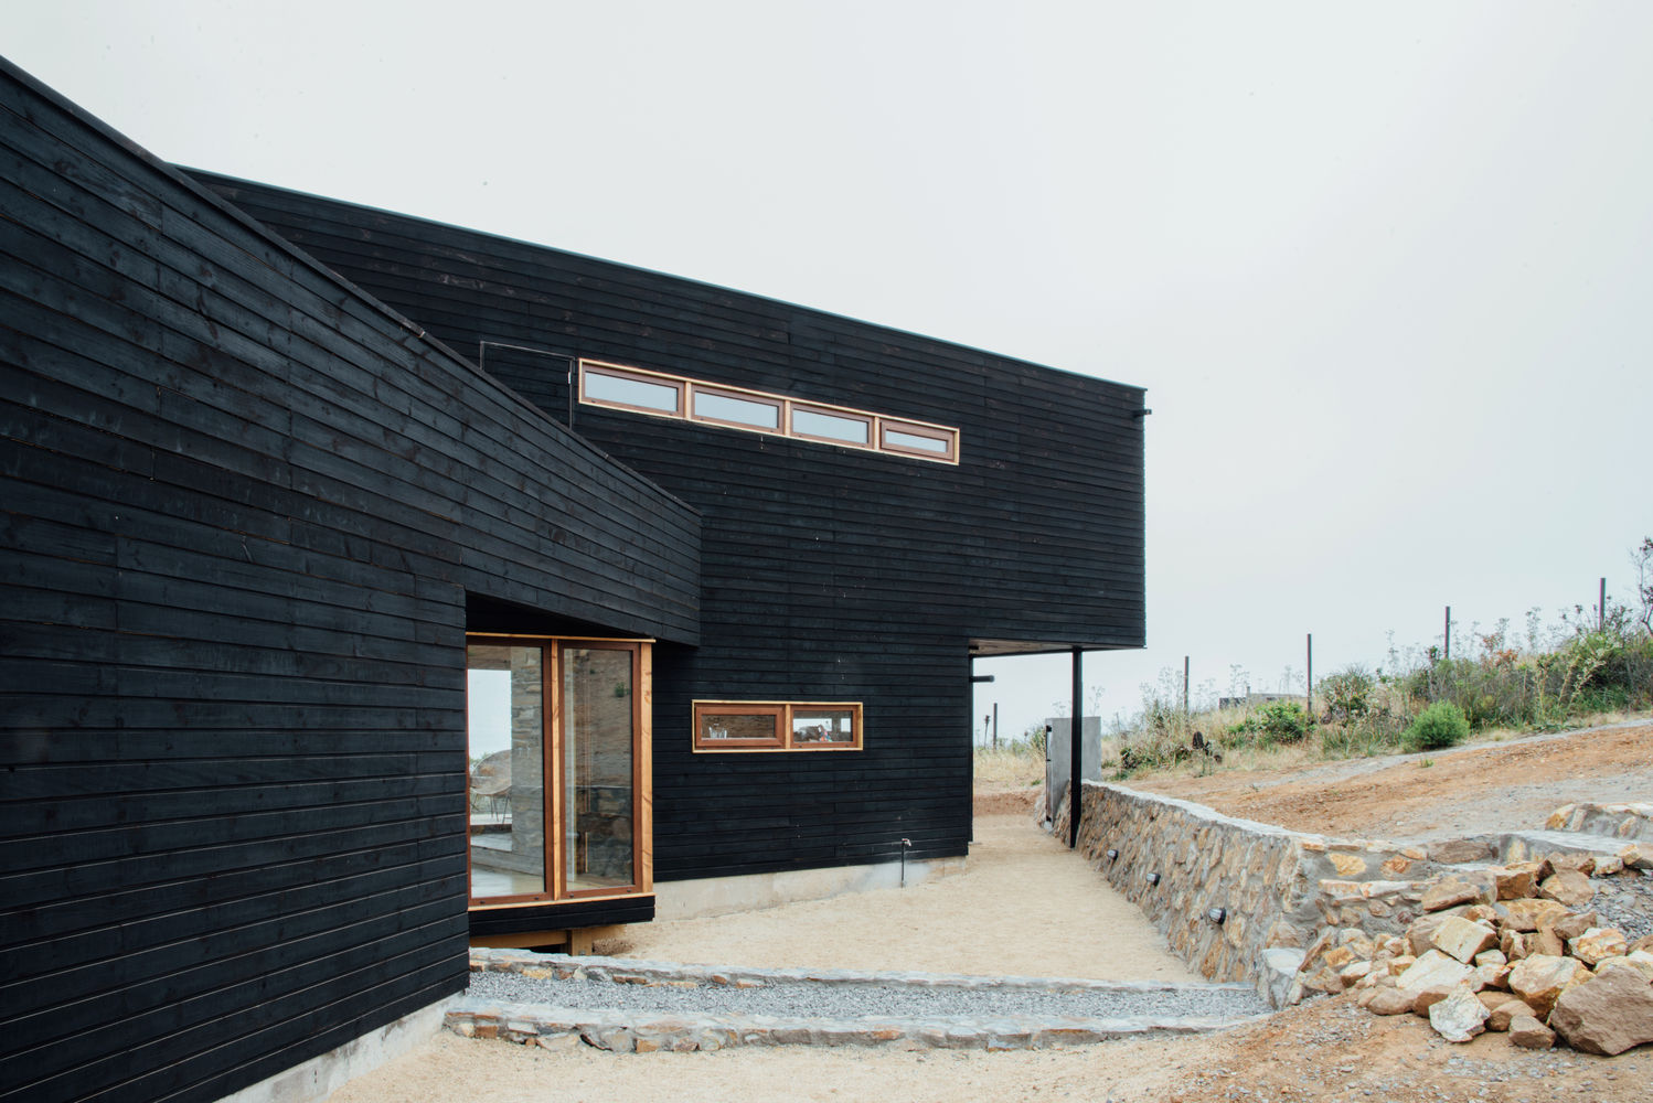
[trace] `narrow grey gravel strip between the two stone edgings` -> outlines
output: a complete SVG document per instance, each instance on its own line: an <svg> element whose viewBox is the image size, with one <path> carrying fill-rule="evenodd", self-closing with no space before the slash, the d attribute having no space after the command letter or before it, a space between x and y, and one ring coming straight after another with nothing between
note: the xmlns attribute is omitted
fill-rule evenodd
<svg viewBox="0 0 1653 1103"><path fill-rule="evenodd" d="M521 973L473 973L466 996L554 1007L620 1007L665 1014L736 1014L805 1019L936 1019L1002 1015L1117 1019L1122 1015L1210 1015L1238 1019L1268 1011L1250 989L1170 986L1147 991L932 987L914 984L765 984L666 987L612 981L542 981Z"/></svg>

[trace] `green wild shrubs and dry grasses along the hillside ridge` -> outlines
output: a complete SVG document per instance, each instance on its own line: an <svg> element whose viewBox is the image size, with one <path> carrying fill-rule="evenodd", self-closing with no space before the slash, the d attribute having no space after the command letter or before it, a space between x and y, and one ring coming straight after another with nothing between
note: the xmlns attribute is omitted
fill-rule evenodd
<svg viewBox="0 0 1653 1103"><path fill-rule="evenodd" d="M1574 606L1546 627L1526 618L1471 627L1446 657L1440 647L1398 652L1384 667L1351 665L1319 679L1312 712L1296 700L1246 703L1241 694L1184 710L1172 672L1144 685L1142 712L1116 725L1116 778L1189 765L1260 765L1279 758L1349 758L1451 746L1471 733L1559 730L1653 708L1653 538L1632 555L1633 604ZM1241 684L1235 670L1233 682ZM1208 690L1208 687L1207 687ZM1228 703L1222 703L1227 700ZM1108 751L1104 750L1104 758Z"/></svg>

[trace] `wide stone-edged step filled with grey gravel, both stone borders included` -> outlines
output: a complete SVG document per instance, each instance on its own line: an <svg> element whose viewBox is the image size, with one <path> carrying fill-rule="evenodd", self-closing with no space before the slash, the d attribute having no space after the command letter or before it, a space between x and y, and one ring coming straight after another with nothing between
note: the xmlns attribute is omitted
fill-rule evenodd
<svg viewBox="0 0 1653 1103"><path fill-rule="evenodd" d="M545 1049L1050 1049L1217 1030L1266 1014L1248 984L693 966L473 949L450 1030Z"/></svg>

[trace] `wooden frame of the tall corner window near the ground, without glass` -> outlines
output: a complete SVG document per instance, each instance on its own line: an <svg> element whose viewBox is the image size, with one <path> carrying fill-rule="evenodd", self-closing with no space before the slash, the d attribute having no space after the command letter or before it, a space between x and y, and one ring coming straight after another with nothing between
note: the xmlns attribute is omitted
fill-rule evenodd
<svg viewBox="0 0 1653 1103"><path fill-rule="evenodd" d="M541 649L541 778L545 794L544 847L549 875L545 890L499 897L471 895L471 844L469 827L464 845L464 897L469 911L494 908L544 907L590 898L625 898L655 892L655 649L653 639L592 637L592 636L532 636L512 632L466 632L466 652L471 644ZM562 651L564 647L600 647L631 652L631 883L603 885L600 888L567 887L567 832L564 827L564 738L562 738ZM466 660L469 669L469 660ZM466 717L469 717L469 690L466 690ZM469 756L469 743L466 743ZM469 781L466 781L469 784ZM469 791L466 791L466 817L469 817Z"/></svg>

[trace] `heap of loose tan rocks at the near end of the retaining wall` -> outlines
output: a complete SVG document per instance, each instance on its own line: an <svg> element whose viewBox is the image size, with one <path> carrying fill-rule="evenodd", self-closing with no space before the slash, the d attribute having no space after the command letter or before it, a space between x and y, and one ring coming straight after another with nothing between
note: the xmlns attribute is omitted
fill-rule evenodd
<svg viewBox="0 0 1653 1103"><path fill-rule="evenodd" d="M1623 859L1552 854L1537 862L1455 870L1423 887L1403 935L1326 931L1304 956L1306 989L1354 989L1380 1015L1425 1015L1448 1042L1484 1030L1549 1049L1557 1037L1615 1055L1653 1042L1653 935L1627 938L1590 903L1592 880L1638 877ZM1653 855L1650 855L1653 857Z"/></svg>

